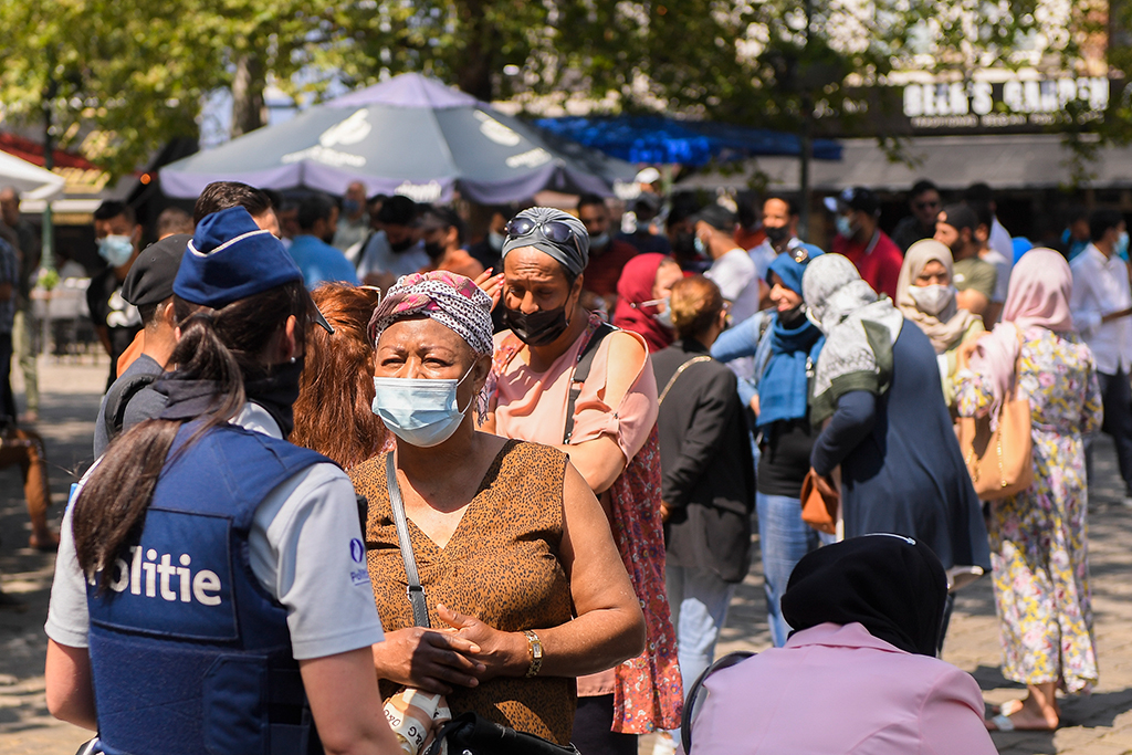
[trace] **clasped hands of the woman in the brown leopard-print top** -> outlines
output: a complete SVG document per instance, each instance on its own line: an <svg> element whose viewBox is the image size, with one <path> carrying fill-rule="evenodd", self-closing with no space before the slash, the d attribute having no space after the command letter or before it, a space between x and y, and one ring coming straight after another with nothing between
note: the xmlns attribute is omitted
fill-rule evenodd
<svg viewBox="0 0 1132 755"><path fill-rule="evenodd" d="M406 627L386 632L385 642L374 645L374 667L383 679L447 695L453 685L479 684L487 669L479 653L479 645L455 633Z"/></svg>

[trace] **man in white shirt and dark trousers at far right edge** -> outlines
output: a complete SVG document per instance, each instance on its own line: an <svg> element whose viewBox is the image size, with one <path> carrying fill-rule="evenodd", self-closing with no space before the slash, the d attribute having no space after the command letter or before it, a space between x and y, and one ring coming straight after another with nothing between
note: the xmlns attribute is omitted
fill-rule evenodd
<svg viewBox="0 0 1132 755"><path fill-rule="evenodd" d="M1105 405L1101 430L1116 444L1116 460L1124 478L1124 503L1132 505L1132 292L1127 264L1124 217L1115 209L1098 209L1089 216L1091 243L1070 263L1073 325L1092 350ZM1092 461L1092 444L1086 441L1086 460ZM1091 466L1091 463L1090 463Z"/></svg>

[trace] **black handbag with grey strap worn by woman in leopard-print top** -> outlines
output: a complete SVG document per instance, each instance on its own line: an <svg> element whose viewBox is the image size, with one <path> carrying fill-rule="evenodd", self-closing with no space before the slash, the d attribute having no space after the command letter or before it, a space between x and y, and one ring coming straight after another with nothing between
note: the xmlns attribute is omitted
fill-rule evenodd
<svg viewBox="0 0 1132 755"><path fill-rule="evenodd" d="M397 529L401 560L405 565L413 624L431 628L428 599L417 572L417 557L413 556L413 544L409 538L409 521L405 518L405 504L401 499L397 467L392 453L385 457L385 484L389 492L393 523ZM427 755L440 755L445 743L448 744L449 753L460 755L581 755L574 745L563 747L537 735L516 731L511 727L489 721L474 711L462 713L440 727Z"/></svg>

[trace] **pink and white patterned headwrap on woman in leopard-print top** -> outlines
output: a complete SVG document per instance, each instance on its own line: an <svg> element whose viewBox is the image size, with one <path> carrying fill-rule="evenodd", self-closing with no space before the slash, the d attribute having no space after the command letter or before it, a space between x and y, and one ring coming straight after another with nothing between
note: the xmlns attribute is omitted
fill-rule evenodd
<svg viewBox="0 0 1132 755"><path fill-rule="evenodd" d="M478 357L495 351L491 298L471 278L446 271L403 275L374 310L369 338L377 345L385 328L417 315L430 317L468 342Z"/></svg>

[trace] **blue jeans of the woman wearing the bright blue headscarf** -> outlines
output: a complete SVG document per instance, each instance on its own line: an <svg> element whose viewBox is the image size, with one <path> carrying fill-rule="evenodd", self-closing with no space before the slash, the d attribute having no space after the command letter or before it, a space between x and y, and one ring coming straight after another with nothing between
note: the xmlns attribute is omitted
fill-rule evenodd
<svg viewBox="0 0 1132 755"><path fill-rule="evenodd" d="M766 620L775 647L786 644L790 625L782 618L782 593L790 573L801 557L818 546L833 542L801 521L801 501L790 496L755 495L758 511L758 547L763 554L763 585L766 590Z"/></svg>

